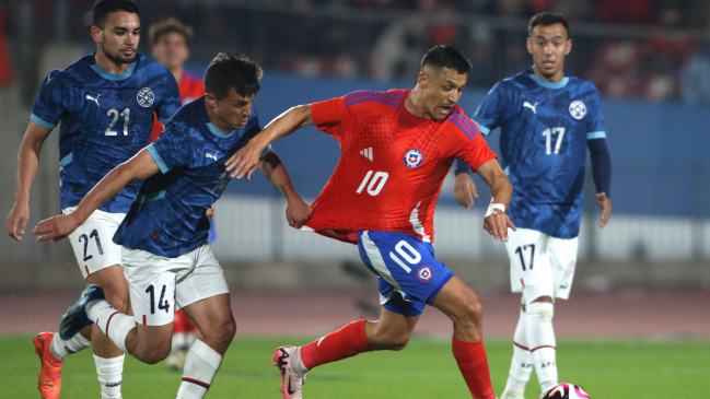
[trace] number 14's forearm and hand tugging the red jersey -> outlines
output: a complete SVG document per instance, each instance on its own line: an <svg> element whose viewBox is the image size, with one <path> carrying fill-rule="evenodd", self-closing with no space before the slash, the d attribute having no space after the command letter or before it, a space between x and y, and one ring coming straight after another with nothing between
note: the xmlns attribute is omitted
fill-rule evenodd
<svg viewBox="0 0 710 399"><path fill-rule="evenodd" d="M295 188L291 184L291 178L289 173L286 171L286 166L279 159L279 155L271 150L264 160L259 162L259 169L261 174L268 178L276 187L283 192L288 206L286 208L286 219L289 221L289 225L295 228L301 228L303 225L311 219L313 215L313 209L311 206L303 202L301 196L295 192Z"/></svg>

